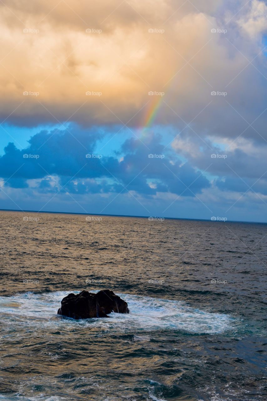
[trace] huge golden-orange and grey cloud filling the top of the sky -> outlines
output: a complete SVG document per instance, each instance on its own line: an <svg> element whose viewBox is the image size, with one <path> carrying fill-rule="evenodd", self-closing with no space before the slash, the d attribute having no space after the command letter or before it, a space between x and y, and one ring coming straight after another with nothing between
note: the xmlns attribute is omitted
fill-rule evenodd
<svg viewBox="0 0 267 401"><path fill-rule="evenodd" d="M234 138L245 130L245 138L265 138L264 2L7 6L0 20L3 120L138 127L155 100L148 92L163 91L157 123L180 130L192 122L199 135Z"/></svg>

